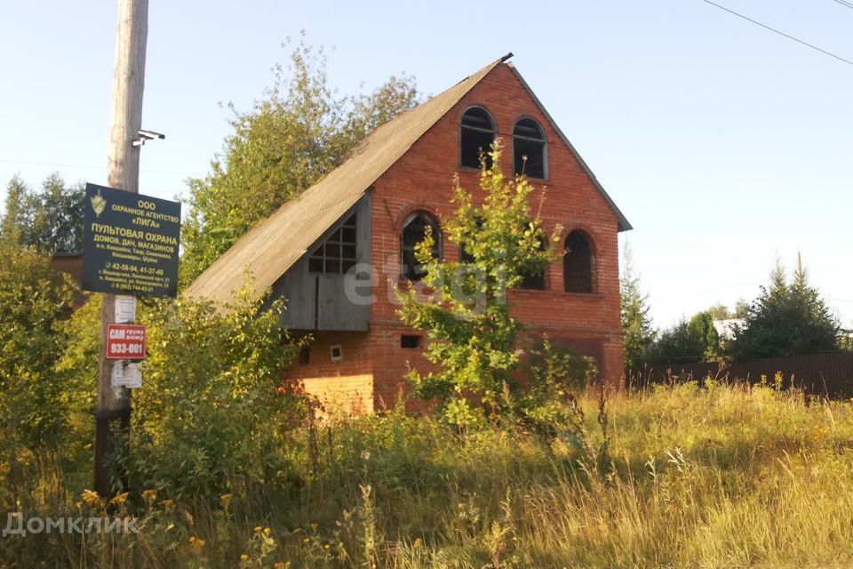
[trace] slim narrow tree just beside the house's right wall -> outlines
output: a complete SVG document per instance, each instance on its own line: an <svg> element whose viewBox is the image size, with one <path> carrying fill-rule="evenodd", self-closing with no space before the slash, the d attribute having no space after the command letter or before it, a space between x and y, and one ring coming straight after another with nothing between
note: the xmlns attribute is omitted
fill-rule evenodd
<svg viewBox="0 0 853 569"><path fill-rule="evenodd" d="M619 277L622 298L622 337L625 346L625 365L641 365L649 356L656 332L649 315L649 296L640 291L640 275L634 270L634 254L626 242L623 249L625 268Z"/></svg>

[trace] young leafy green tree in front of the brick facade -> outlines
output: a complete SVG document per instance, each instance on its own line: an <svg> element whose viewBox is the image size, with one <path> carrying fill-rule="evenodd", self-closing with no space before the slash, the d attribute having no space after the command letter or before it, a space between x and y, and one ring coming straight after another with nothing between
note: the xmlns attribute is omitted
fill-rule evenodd
<svg viewBox="0 0 853 569"><path fill-rule="evenodd" d="M412 370L409 379L420 397L436 398L455 425L480 421L483 407L508 410L505 389L519 365L515 341L522 325L511 316L506 293L525 274L543 270L555 254L556 233L546 236L530 213L532 186L523 177L504 177L498 166L501 152L496 142L490 152L495 165L486 169L483 163L482 204L475 204L457 180L457 210L444 220L449 241L465 249L466 261L434 259L434 236L427 234L416 256L432 293L421 298L414 287L401 293L400 317L427 332L426 358L440 365L429 373ZM544 251L543 242L548 243Z"/></svg>

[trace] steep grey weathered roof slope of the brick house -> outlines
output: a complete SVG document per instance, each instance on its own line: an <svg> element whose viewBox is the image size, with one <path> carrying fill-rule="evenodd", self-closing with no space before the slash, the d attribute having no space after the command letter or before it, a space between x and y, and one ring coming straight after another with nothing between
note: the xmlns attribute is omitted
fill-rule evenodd
<svg viewBox="0 0 853 569"><path fill-rule="evenodd" d="M245 283L246 270L251 272L251 286L255 293L263 293L412 144L508 57L493 61L447 91L380 126L355 149L347 162L251 228L198 276L185 294L225 303L232 300Z"/></svg>

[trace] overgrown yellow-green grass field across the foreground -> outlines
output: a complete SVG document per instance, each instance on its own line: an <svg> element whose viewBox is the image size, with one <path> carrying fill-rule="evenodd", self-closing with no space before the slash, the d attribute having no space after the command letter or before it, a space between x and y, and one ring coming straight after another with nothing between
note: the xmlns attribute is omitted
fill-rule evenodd
<svg viewBox="0 0 853 569"><path fill-rule="evenodd" d="M275 491L193 503L134 494L115 509L140 516L138 534L9 536L0 559L21 567L853 564L849 402L685 384L610 395L606 432L597 397L582 403L589 446L610 437L605 461L568 439L548 446L501 430L458 437L401 413L337 419L297 433L294 469ZM28 464L25 515L100 509L81 501L83 487L63 482L80 473L36 457Z"/></svg>

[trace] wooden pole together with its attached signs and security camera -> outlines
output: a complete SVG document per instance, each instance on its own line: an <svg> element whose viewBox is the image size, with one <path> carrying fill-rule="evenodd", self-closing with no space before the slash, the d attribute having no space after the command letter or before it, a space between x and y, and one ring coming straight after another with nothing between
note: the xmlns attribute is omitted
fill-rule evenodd
<svg viewBox="0 0 853 569"><path fill-rule="evenodd" d="M136 296L177 293L180 205L139 195L140 148L165 138L141 124L147 19L148 0L118 0L108 187L86 185L82 284L103 293L94 485L104 497L113 494L108 462L116 427L124 433L119 440L127 441L130 389L141 386L146 356L145 327L135 324Z"/></svg>

